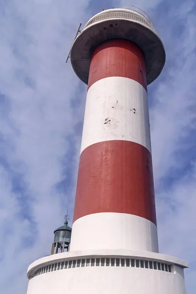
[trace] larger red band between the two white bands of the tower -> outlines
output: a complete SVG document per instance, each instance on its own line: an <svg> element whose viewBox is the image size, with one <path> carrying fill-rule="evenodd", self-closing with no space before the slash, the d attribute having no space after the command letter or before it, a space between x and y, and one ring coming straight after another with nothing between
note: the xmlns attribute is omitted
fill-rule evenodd
<svg viewBox="0 0 196 294"><path fill-rule="evenodd" d="M120 212L156 224L151 154L129 141L104 141L80 156L73 221L88 214Z"/></svg>

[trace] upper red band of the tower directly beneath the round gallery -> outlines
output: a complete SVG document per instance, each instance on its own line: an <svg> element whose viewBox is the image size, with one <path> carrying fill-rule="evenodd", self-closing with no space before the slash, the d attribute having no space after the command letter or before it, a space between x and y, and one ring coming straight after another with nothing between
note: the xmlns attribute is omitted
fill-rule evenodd
<svg viewBox="0 0 196 294"><path fill-rule="evenodd" d="M98 80L109 76L123 76L140 83L147 90L145 56L134 43L109 40L93 52L88 89Z"/></svg>

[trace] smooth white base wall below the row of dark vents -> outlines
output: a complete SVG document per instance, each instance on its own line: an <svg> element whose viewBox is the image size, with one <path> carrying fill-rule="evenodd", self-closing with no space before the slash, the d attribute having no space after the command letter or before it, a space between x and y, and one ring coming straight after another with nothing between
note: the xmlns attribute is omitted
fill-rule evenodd
<svg viewBox="0 0 196 294"><path fill-rule="evenodd" d="M175 272L126 267L58 270L29 280L27 294L186 294L183 269Z"/></svg>

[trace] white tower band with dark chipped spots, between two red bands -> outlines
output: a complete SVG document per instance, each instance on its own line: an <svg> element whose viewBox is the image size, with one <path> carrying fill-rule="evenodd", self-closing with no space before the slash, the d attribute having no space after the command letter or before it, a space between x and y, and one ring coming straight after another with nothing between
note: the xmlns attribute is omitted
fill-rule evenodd
<svg viewBox="0 0 196 294"><path fill-rule="evenodd" d="M135 142L151 152L147 91L130 78L103 78L88 90L81 152L109 140Z"/></svg>

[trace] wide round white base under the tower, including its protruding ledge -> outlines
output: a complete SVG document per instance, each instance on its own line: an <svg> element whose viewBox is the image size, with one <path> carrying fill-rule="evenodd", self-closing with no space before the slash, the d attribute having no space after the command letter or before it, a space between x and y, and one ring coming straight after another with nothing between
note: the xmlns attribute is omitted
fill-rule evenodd
<svg viewBox="0 0 196 294"><path fill-rule="evenodd" d="M169 264L172 272L101 264L60 269L34 276L47 265L87 258L136 258ZM136 265L135 265L136 266ZM58 253L33 262L28 268L27 294L186 294L183 269L188 263L165 254L139 250L80 250Z"/></svg>

